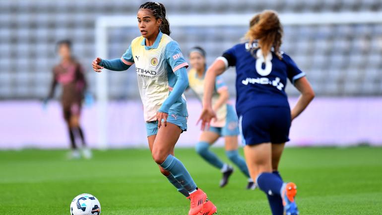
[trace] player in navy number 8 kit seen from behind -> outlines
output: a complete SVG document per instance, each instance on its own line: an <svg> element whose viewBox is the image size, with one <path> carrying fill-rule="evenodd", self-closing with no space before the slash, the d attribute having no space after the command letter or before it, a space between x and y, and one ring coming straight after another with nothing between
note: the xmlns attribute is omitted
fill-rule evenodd
<svg viewBox="0 0 382 215"><path fill-rule="evenodd" d="M280 51L282 34L274 11L265 10L251 20L246 34L249 42L224 52L206 72L200 120L204 130L216 117L211 107L215 78L228 67L236 67L236 111L251 177L267 195L273 215L298 215L294 200L297 186L283 182L278 164L289 141L291 121L304 111L315 93L305 73ZM285 93L287 79L301 92L292 111Z"/></svg>

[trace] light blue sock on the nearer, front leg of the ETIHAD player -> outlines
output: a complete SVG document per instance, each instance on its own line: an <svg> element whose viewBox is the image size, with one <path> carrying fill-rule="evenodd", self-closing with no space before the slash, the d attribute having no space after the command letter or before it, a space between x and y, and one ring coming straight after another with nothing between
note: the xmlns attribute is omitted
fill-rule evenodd
<svg viewBox="0 0 382 215"><path fill-rule="evenodd" d="M196 190L196 184L191 178L190 173L183 163L173 155L169 154L160 166L169 171L188 192Z"/></svg>

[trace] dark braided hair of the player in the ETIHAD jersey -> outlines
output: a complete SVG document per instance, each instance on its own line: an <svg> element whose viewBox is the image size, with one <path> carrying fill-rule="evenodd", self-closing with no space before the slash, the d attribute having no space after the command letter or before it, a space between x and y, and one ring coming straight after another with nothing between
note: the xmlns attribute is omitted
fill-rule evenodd
<svg viewBox="0 0 382 215"><path fill-rule="evenodd" d="M162 3L147 1L140 5L139 9L149 9L156 19L162 19L162 24L159 26L159 29L162 33L170 35L170 23L166 17L166 8Z"/></svg>

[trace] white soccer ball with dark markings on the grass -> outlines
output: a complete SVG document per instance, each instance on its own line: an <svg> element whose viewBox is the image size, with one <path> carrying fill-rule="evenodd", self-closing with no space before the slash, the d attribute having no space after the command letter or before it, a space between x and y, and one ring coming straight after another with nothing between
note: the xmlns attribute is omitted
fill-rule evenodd
<svg viewBox="0 0 382 215"><path fill-rule="evenodd" d="M100 215L101 205L95 196L81 194L76 196L70 204L70 215Z"/></svg>

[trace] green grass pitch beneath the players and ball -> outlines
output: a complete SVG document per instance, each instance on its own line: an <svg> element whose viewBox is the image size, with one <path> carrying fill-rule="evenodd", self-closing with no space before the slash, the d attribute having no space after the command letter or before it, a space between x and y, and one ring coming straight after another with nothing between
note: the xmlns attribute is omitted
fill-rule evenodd
<svg viewBox="0 0 382 215"><path fill-rule="evenodd" d="M224 150L213 148L224 160ZM102 215L187 215L189 200L163 177L148 149L94 151L66 160L64 150L0 151L0 215L69 215L73 197L95 195ZM265 195L245 190L236 168L219 188L220 172L193 149L180 148L197 185L219 215L270 215ZM287 148L280 172L299 190L301 215L382 215L382 148Z"/></svg>

